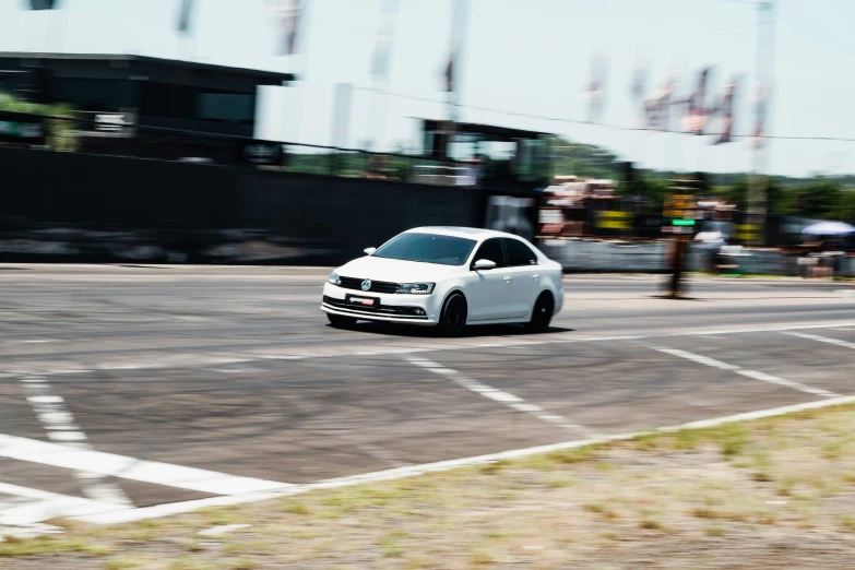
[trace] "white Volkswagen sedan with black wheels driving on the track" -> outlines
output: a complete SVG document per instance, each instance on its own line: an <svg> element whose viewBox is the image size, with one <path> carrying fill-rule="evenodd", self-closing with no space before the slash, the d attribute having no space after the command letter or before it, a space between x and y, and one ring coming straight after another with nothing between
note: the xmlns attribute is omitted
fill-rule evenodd
<svg viewBox="0 0 855 570"><path fill-rule="evenodd" d="M334 326L385 321L454 336L467 324L524 323L541 332L561 310L561 265L512 234L419 227L365 252L323 286Z"/></svg>

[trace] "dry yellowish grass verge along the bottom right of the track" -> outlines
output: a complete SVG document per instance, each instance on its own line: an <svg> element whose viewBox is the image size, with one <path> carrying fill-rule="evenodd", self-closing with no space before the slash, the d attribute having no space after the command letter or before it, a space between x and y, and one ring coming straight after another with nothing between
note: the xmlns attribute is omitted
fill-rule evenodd
<svg viewBox="0 0 855 570"><path fill-rule="evenodd" d="M67 524L61 536L0 543L0 557L39 570L60 556L62 570L624 570L667 553L669 568L700 569L700 553L725 537L720 566L777 568L784 545L792 567L844 568L855 559L852 434L855 407L811 411L129 525ZM219 524L251 526L197 535ZM789 550L807 544L807 558ZM836 558L817 558L826 553Z"/></svg>

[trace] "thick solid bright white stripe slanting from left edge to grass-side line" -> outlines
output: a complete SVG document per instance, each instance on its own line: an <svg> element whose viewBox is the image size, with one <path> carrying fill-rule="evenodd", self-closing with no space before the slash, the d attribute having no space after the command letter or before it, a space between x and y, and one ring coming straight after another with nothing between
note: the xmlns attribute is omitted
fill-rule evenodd
<svg viewBox="0 0 855 570"><path fill-rule="evenodd" d="M0 456L213 495L240 495L292 486L16 436L0 435Z"/></svg>

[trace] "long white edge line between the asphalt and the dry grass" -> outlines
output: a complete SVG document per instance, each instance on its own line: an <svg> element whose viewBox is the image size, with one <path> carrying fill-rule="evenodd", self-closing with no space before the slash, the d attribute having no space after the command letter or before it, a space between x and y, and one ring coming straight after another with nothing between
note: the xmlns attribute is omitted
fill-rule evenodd
<svg viewBox="0 0 855 570"><path fill-rule="evenodd" d="M721 417L715 417L710 419L702 419L699 421L690 421L688 424L680 424L677 426L661 427L652 431L636 431L630 434L618 434L615 436L601 437L596 439L581 439L581 440L573 440L573 441L565 441L561 443L553 443L549 446L537 446L533 448L501 451L499 453L490 453L487 455L476 455L472 458L439 461L436 463L423 463L420 465L411 465L407 467L397 467L393 470L365 473L361 475L352 475L349 477L339 477L339 478L321 480L312 484L294 485L290 488L278 490L278 491L252 492L247 495L233 495L229 497L212 497L210 499L195 499L195 500L182 501L182 502L170 502L166 504L156 504L154 507L142 507L139 509L126 509L121 511L114 511L114 512L107 512L100 514L75 516L75 519L88 523L94 523L94 524L118 524L118 523L126 523L126 522L133 522L133 521L142 521L146 519L158 519L161 516L168 516L171 514L192 512L192 511L198 511L199 509L206 509L210 507L226 507L233 504L242 504L248 502L264 501L276 497L299 495L302 492L308 492L317 489L349 487L353 485L360 485L364 483L402 479L406 477L415 477L418 475L423 475L425 473L449 471L458 467L483 465L487 463L496 463L497 461L514 460L514 459L527 458L530 455L536 455L541 453L549 453L553 451L581 448L584 446L590 446L592 443L605 443L608 441L624 441L628 439L638 438L641 436L650 436L653 434L672 434L685 429L705 429L705 428L721 426L724 424L749 421L752 419L762 419L765 417L783 416L785 414L792 414L795 412L804 412L806 409L818 409L823 407L847 405L847 404L855 404L855 396L841 396L832 400L817 400L814 402L806 402L803 404L794 404L789 406L758 409L756 412L746 412L743 414L735 414L731 416L721 416Z"/></svg>

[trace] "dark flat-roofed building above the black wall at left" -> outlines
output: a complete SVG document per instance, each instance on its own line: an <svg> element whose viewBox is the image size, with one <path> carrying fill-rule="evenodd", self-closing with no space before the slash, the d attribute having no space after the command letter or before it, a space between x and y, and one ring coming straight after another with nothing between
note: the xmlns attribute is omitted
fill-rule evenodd
<svg viewBox="0 0 855 570"><path fill-rule="evenodd" d="M79 150L100 154L245 162L246 145L234 138L254 134L258 87L293 80L147 56L0 52L0 91L67 104L80 119Z"/></svg>

